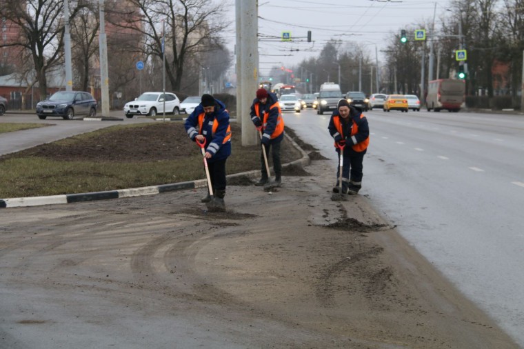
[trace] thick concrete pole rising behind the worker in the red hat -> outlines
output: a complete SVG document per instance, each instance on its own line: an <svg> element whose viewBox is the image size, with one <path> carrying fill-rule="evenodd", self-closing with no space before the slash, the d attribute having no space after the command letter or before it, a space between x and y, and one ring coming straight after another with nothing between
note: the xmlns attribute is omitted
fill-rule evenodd
<svg viewBox="0 0 524 349"><path fill-rule="evenodd" d="M256 128L251 125L250 107L259 83L259 39L258 8L256 0L241 2L241 85L236 89L237 98L242 99L242 109L237 115L242 120L242 146L256 146L259 139ZM238 42L237 42L238 44Z"/></svg>

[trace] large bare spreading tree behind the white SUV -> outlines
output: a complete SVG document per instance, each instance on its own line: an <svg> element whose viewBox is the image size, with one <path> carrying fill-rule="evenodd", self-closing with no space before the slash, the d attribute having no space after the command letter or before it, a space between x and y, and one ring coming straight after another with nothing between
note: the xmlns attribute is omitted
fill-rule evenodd
<svg viewBox="0 0 524 349"><path fill-rule="evenodd" d="M165 54L165 72L172 90L181 88L187 59L203 60L203 52L221 47L219 36L229 23L224 21L225 6L206 0L129 0L121 19L113 24L136 31L143 45L130 50L143 57ZM163 29L165 28L165 32ZM162 43L165 43L165 52Z"/></svg>

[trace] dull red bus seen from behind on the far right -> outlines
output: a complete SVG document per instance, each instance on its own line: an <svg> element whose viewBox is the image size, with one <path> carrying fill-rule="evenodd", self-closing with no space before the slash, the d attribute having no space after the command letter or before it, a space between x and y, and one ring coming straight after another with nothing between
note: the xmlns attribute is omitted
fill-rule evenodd
<svg viewBox="0 0 524 349"><path fill-rule="evenodd" d="M458 112L464 103L465 82L458 79L438 79L427 83L426 108L429 112L447 109Z"/></svg>

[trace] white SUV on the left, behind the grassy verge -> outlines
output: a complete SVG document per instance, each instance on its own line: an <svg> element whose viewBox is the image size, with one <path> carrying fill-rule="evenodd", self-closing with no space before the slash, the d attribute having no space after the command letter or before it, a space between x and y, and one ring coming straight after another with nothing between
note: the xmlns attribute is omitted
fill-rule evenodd
<svg viewBox="0 0 524 349"><path fill-rule="evenodd" d="M123 112L129 119L134 115L154 117L157 114L163 114L164 104L165 114L180 114L180 99L177 94L171 92L165 92L165 94L163 92L143 92L134 101L125 103Z"/></svg>

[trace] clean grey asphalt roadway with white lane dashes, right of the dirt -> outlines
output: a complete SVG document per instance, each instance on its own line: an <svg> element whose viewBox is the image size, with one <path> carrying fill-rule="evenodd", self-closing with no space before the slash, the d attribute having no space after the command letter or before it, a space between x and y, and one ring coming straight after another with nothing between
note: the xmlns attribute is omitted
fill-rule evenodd
<svg viewBox="0 0 524 349"><path fill-rule="evenodd" d="M524 117L365 113L362 195L524 347ZM336 163L329 114L286 125Z"/></svg>

